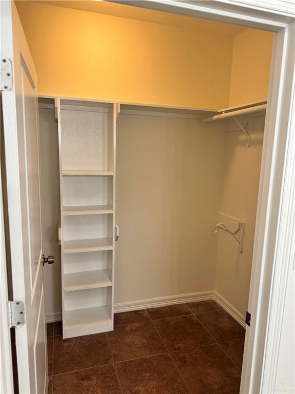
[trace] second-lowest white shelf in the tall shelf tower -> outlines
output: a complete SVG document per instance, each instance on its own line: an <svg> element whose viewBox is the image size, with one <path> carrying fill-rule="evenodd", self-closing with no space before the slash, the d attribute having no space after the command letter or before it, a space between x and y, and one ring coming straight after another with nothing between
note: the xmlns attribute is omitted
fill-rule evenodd
<svg viewBox="0 0 295 394"><path fill-rule="evenodd" d="M65 291L94 289L112 286L107 269L66 273L64 277Z"/></svg>

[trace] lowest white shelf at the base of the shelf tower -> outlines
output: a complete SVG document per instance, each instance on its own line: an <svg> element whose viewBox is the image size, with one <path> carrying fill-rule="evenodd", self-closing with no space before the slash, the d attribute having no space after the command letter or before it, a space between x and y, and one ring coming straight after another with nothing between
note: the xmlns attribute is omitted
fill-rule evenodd
<svg viewBox="0 0 295 394"><path fill-rule="evenodd" d="M65 311L65 329L111 323L111 315L106 305Z"/></svg>

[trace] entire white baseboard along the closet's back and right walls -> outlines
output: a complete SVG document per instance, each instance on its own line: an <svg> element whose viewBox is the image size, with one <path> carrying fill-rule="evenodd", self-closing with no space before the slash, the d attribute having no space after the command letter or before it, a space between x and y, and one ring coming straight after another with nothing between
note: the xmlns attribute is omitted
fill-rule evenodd
<svg viewBox="0 0 295 394"><path fill-rule="evenodd" d="M156 308L159 306L184 304L186 302L215 300L230 316L232 316L242 327L246 328L245 317L233 305L229 304L217 291L200 291L198 293L168 295L167 297L149 298L146 300L122 302L114 305L114 312L129 312L138 309ZM61 312L46 314L46 322L57 322L61 320Z"/></svg>

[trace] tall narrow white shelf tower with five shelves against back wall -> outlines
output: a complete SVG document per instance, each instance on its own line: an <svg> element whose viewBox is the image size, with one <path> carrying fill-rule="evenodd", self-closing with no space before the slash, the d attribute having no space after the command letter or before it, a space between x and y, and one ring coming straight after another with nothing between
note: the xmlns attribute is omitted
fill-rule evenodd
<svg viewBox="0 0 295 394"><path fill-rule="evenodd" d="M62 326L71 338L113 329L117 105L56 105Z"/></svg>

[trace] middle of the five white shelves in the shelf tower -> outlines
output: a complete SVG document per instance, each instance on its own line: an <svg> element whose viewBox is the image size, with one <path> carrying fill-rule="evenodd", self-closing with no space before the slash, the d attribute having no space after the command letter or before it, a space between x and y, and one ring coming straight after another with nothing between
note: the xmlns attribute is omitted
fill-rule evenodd
<svg viewBox="0 0 295 394"><path fill-rule="evenodd" d="M88 240L64 241L64 253L96 252L99 250L112 250L112 238L97 238Z"/></svg>

